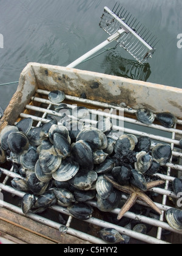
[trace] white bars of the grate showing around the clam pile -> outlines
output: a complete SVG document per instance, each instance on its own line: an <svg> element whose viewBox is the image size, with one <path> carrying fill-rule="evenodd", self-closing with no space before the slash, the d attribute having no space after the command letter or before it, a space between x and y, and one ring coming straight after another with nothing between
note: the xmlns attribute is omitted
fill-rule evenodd
<svg viewBox="0 0 182 256"><path fill-rule="evenodd" d="M36 95L35 97L32 97L31 101L33 103L39 104L39 107L36 107L33 104L30 105L26 105L26 110L27 113L30 112L32 115L27 114L26 112L21 113L19 115L20 118L28 118L31 117L34 121L37 122L37 126L41 126L42 123L48 123L49 119L48 115L51 116L55 116L57 118L61 117L61 114L58 112L55 112L54 109L54 105L59 105L59 104L52 104L52 102L50 102L48 100L48 94L49 91L44 91L44 90L37 90L36 91ZM182 137L182 122L180 120L178 120L177 124L175 124L175 126L172 129L167 129L163 126L160 126L158 124L152 124L152 125L145 125L145 124L141 124L139 121L136 121L135 118L127 118L125 117L125 115L129 115L131 114L131 116L133 114L135 114L136 110L130 109L130 108L122 108L120 106L115 106L115 105L110 105L110 104L106 104L106 103L102 103L102 102L96 102L96 101L90 101L88 99L82 99L82 98L76 98L73 96L66 96L66 102L71 102L71 104L67 104L67 106L70 109L73 109L75 107L75 105L81 105L83 104L84 106L88 106L89 111L90 111L90 115L92 114L92 116L95 116L96 118L98 118L98 116L105 116L105 117L110 117L112 120L115 121L114 125L113 125L113 129L120 131L121 133L130 133L130 134L134 134L136 136L148 136L152 139L153 143L155 142L162 142L162 143L168 143L170 144L170 146L173 149L173 156L177 157L178 159L178 163L172 163L172 159L169 163L167 163L166 168L167 168L167 174L156 174L158 176L161 177L161 179L166 180L166 184L165 184L165 188L152 188L152 191L155 193L158 193L161 195L161 201L156 203L158 208L160 208L163 211L163 215L160 216L160 219L152 219L149 218L148 216L143 216L143 215L136 215L133 212L127 212L126 215L124 215L125 217L129 218L129 219L134 219L134 220L138 220L141 221L142 223L145 224L149 224L153 227L155 227L155 236L149 236L149 235L143 235L141 233L136 233L133 230L128 230L125 229L124 227L120 227L120 226L116 226L115 224L103 221L101 219L97 219L97 218L90 218L88 221L86 221L89 224L94 224L96 226L99 227L113 227L116 230L118 230L121 234L124 235L128 235L131 238L135 238L136 240L140 240L146 243L167 243L166 241L162 240L162 230L168 230L171 233L179 233L180 235L182 235L182 232L178 232L174 229L172 229L169 224L167 224L167 222L165 221L165 217L164 217L164 213L166 212L166 210L168 210L169 208L171 208L171 205L167 205L167 203L169 201L167 201L167 197L171 197L172 199L177 199L177 196L170 190L170 183L175 179L175 177L179 176L179 171L182 171L182 166L181 166L181 158L182 158L182 153L179 149L179 138ZM93 107L93 109L92 109ZM103 110L101 110L101 108L107 108L109 111L104 112ZM100 109L100 110L96 110L96 109ZM71 112L70 112L71 113ZM121 113L123 113L121 115ZM120 115L119 115L120 114ZM76 119L74 116L70 115L69 116L70 119ZM96 119L88 119L86 120L86 122L89 124L91 123L92 125L95 125L97 123ZM123 126L118 126L119 123L122 123ZM178 127L178 128L177 128ZM154 144L153 144L154 145ZM178 151L176 151L176 149L178 148ZM2 191L6 191L7 193L10 194L15 194L16 196L19 197L23 197L25 193L21 192L21 191L17 191L14 188L6 185L7 184L7 180L8 179L12 179L15 177L21 177L19 176L19 174L16 174L14 172L12 172L11 170L7 170L4 168L1 168L2 173L5 175L5 179L2 183L0 183L0 192ZM22 177L21 177L22 179ZM122 199L127 199L127 197L123 194ZM96 202L92 201L89 202L90 205L92 205L92 207L96 207ZM143 202L138 201L138 204L140 205L145 205ZM0 200L0 206L8 208L9 210L12 210L16 213L19 213L22 215L22 210L21 208L19 208L18 206L9 204L8 202L4 202L2 200ZM64 215L69 215L69 213L67 212L66 208L63 207L59 207L57 205L50 207L53 210L55 210L56 212L59 213L63 213ZM120 211L120 209L115 209L112 211L113 214L118 215L118 212ZM106 213L103 213L103 215ZM39 221L47 226L50 227L54 227L56 229L59 229L60 224L57 222L53 222L50 221L49 219L45 219L43 217L40 217L38 215L35 214L30 214L27 215L29 216L29 218L34 219L36 221ZM67 233L69 235L73 235L76 236L78 238L81 238L83 240L86 241L90 241L90 243L95 243L95 244L101 244L101 243L105 243L103 240L92 236L92 235L88 235L87 233L81 232L79 230L76 230L75 228L72 228L72 216L69 217L68 222L67 222Z"/></svg>

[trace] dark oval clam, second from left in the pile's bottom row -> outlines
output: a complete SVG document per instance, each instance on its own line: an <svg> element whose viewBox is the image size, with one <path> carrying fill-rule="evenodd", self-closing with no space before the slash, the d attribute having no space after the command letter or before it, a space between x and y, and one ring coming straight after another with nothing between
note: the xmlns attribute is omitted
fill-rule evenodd
<svg viewBox="0 0 182 256"><path fill-rule="evenodd" d="M41 196L38 197L37 201L35 202L34 207L39 208L39 207L50 207L52 205L55 205L57 202L55 193L53 190L48 190L41 194Z"/></svg>

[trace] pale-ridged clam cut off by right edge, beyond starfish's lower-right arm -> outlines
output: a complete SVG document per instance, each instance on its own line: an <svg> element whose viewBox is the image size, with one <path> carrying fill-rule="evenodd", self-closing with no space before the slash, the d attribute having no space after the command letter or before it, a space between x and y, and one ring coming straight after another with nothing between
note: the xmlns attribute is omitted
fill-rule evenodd
<svg viewBox="0 0 182 256"><path fill-rule="evenodd" d="M166 212L166 220L170 227L175 230L182 231L182 211L170 208Z"/></svg>

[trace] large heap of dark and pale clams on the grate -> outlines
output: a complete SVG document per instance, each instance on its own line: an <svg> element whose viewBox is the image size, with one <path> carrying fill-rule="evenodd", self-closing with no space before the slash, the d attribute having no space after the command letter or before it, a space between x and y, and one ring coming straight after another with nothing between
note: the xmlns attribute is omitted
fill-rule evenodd
<svg viewBox="0 0 182 256"><path fill-rule="evenodd" d="M73 217L87 220L93 213L87 204L92 199L96 199L101 212L110 212L119 206L121 193L104 175L121 185L147 190L146 176L169 162L172 149L167 144L156 144L151 151L149 137L122 135L115 140L109 133L112 124L104 119L103 127L106 123L109 130L71 121L74 129L68 130L52 119L32 128L33 120L26 118L2 130L0 162L11 161L21 174L22 178L12 180L12 186L26 193L22 199L25 214L41 213L58 204Z"/></svg>

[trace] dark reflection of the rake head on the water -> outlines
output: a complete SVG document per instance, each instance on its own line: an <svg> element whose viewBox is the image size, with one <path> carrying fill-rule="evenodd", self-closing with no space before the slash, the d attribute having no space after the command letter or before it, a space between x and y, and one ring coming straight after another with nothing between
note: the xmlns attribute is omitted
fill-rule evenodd
<svg viewBox="0 0 182 256"><path fill-rule="evenodd" d="M109 52L104 58L101 67L105 69L105 74L144 82L149 79L151 74L149 63L140 64L136 60L124 59L118 52Z"/></svg>

